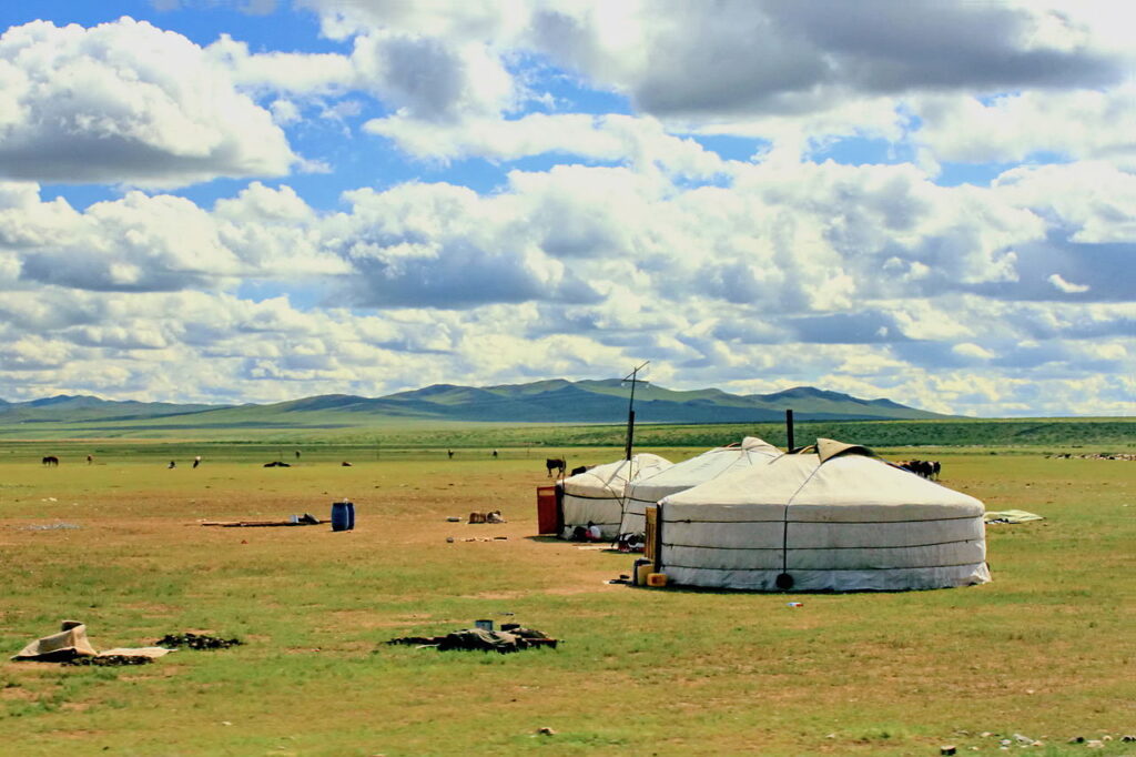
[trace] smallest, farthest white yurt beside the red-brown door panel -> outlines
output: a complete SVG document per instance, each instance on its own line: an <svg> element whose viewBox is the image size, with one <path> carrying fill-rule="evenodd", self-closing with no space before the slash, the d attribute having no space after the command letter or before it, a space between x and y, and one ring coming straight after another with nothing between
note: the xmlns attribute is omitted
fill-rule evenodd
<svg viewBox="0 0 1136 757"><path fill-rule="evenodd" d="M629 460L617 460L568 476L560 482L562 513L566 531L594 523L604 539L619 535L619 521L624 513L627 483L669 468L670 460L658 455L633 455Z"/></svg>

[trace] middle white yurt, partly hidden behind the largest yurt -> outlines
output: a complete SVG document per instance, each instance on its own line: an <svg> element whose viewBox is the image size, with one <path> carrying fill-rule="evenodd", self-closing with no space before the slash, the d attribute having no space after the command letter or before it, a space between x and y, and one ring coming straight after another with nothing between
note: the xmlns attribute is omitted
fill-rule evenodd
<svg viewBox="0 0 1136 757"><path fill-rule="evenodd" d="M668 494L686 491L726 473L766 463L780 455L780 450L757 436L746 436L741 444L718 447L688 460L655 473L640 476L627 484L624 518L619 533L643 533L644 510Z"/></svg>

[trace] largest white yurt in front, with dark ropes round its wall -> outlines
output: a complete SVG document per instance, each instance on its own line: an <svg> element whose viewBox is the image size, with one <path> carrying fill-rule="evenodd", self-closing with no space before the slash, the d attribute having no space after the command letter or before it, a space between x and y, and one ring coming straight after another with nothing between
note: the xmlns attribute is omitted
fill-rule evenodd
<svg viewBox="0 0 1136 757"><path fill-rule="evenodd" d="M833 440L659 508L657 569L679 584L894 591L991 580L980 501Z"/></svg>

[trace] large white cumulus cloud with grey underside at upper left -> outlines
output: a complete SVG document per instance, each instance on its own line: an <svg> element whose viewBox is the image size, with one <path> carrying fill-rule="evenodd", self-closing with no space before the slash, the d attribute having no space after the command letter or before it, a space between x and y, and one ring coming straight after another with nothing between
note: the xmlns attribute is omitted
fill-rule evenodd
<svg viewBox="0 0 1136 757"><path fill-rule="evenodd" d="M268 110L184 36L122 18L0 36L0 176L179 186L278 176L296 156Z"/></svg>

